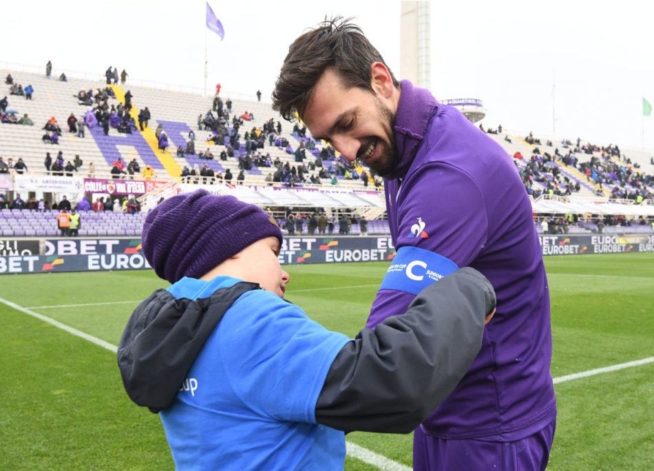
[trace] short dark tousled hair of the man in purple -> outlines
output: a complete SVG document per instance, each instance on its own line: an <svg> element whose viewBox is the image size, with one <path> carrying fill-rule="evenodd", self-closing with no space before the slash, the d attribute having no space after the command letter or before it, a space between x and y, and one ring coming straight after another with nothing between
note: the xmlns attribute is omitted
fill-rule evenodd
<svg viewBox="0 0 654 471"><path fill-rule="evenodd" d="M350 18L325 19L317 28L299 36L284 59L273 92L273 109L286 121L300 116L308 103L315 84L328 67L333 67L346 87L361 87L372 92L370 65L386 65L377 49L363 36L361 28ZM399 82L388 65L393 85Z"/></svg>

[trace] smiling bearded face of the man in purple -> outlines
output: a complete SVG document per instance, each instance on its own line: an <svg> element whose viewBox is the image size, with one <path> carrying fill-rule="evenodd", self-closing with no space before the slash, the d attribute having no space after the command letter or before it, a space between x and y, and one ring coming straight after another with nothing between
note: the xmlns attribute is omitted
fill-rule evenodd
<svg viewBox="0 0 654 471"><path fill-rule="evenodd" d="M358 158L381 176L397 165L392 109L378 92L346 87L331 68L316 83L302 120L350 162Z"/></svg>

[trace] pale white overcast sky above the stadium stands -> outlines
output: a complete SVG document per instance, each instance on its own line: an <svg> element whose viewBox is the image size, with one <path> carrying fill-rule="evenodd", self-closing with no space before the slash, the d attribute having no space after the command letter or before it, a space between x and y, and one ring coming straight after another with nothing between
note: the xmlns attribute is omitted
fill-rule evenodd
<svg viewBox="0 0 654 471"><path fill-rule="evenodd" d="M619 143L654 153L651 2L434 1L431 3L434 96L479 98L483 124L556 137ZM205 27L204 0L12 1L3 5L0 67L26 63L54 72L103 74L204 86L269 97L288 45L340 14L355 17L397 76L398 0L210 0L224 41ZM26 26L28 25L28 26ZM9 39L13 39L13 41ZM553 89L553 85L556 87ZM554 90L554 93L553 93Z"/></svg>

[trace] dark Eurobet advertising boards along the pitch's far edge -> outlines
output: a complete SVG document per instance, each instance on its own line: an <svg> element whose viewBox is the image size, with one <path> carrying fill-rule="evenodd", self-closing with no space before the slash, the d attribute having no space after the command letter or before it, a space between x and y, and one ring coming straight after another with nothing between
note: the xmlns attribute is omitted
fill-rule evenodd
<svg viewBox="0 0 654 471"><path fill-rule="evenodd" d="M654 252L654 235L541 235L543 255ZM0 274L138 270L150 266L140 239L48 239L45 253L25 240L3 240ZM287 237L282 264L390 262L390 237Z"/></svg>

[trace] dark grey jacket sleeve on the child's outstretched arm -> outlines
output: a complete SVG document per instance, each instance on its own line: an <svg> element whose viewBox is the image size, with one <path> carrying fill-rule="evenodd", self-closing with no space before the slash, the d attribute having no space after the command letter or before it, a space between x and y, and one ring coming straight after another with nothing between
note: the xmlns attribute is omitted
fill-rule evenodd
<svg viewBox="0 0 654 471"><path fill-rule="evenodd" d="M465 267L423 289L403 315L348 342L327 374L317 423L408 433L450 395L481 348L495 292Z"/></svg>

